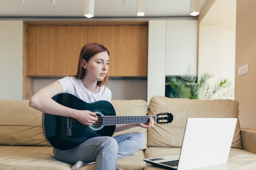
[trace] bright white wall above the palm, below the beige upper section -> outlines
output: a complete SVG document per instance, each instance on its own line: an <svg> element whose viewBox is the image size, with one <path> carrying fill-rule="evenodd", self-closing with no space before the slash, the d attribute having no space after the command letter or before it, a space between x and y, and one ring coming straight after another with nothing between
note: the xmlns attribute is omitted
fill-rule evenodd
<svg viewBox="0 0 256 170"><path fill-rule="evenodd" d="M235 80L236 28L223 24L200 24L198 76L212 74L210 84Z"/></svg>

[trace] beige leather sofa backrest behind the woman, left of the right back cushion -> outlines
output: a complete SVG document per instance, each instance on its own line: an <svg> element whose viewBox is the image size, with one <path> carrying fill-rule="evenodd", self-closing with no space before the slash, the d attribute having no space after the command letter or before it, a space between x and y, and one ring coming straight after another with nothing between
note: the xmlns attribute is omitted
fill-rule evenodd
<svg viewBox="0 0 256 170"><path fill-rule="evenodd" d="M112 105L117 115L147 115L144 100L112 100ZM114 135L126 132L142 132L147 138L147 130L139 127ZM42 112L31 108L29 100L0 99L0 145L50 146L43 135Z"/></svg>

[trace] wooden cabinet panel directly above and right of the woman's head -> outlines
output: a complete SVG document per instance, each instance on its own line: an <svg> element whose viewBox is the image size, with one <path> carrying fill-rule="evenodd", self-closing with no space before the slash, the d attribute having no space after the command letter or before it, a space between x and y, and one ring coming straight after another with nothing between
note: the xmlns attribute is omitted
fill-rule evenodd
<svg viewBox="0 0 256 170"><path fill-rule="evenodd" d="M88 42L106 46L110 56L109 76L117 75L117 26L88 26Z"/></svg>

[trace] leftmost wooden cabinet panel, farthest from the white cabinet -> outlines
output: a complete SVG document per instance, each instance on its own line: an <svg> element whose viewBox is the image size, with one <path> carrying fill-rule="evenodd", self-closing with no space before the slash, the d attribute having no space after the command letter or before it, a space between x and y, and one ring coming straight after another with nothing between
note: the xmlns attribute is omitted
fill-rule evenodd
<svg viewBox="0 0 256 170"><path fill-rule="evenodd" d="M28 26L27 75L56 75L56 26Z"/></svg>

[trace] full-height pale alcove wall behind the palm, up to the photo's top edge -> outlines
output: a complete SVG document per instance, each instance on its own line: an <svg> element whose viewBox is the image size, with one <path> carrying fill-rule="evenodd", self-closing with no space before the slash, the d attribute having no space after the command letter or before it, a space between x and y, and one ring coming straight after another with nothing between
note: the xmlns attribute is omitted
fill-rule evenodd
<svg viewBox="0 0 256 170"><path fill-rule="evenodd" d="M213 75L211 87L221 79L235 83L236 2L208 0L199 17L198 76ZM218 99L218 95L215 96ZM234 96L227 97L234 99Z"/></svg>

